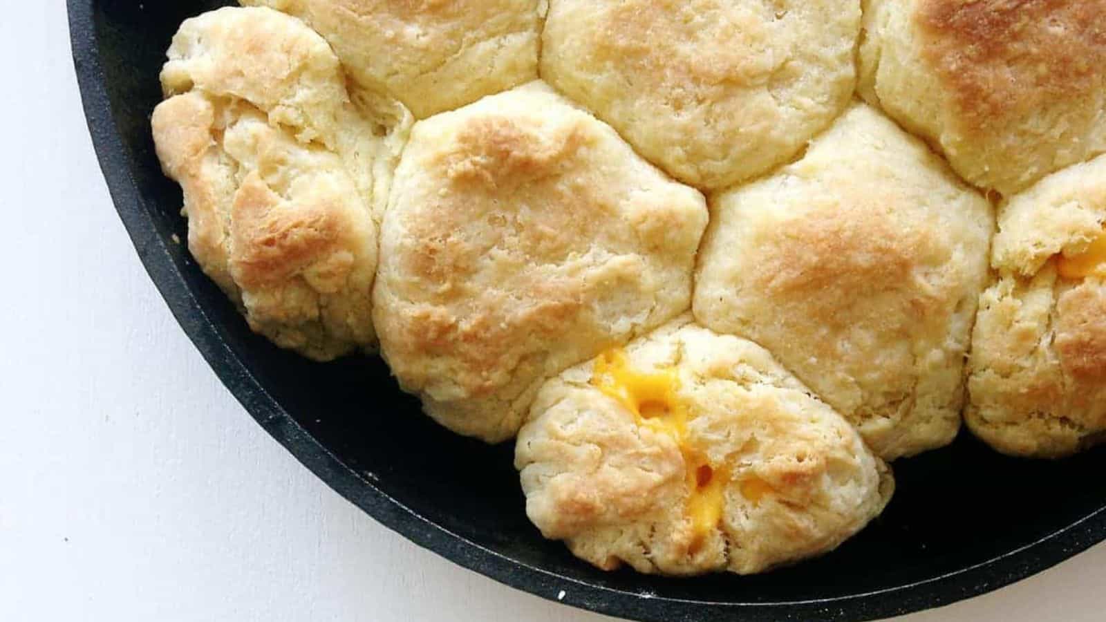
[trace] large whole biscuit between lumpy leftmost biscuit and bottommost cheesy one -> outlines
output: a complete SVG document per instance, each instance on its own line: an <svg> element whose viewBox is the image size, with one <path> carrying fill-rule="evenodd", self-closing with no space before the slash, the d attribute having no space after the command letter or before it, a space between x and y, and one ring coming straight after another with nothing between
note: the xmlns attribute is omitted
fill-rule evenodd
<svg viewBox="0 0 1106 622"><path fill-rule="evenodd" d="M686 311L706 200L540 82L417 123L380 235L382 353L447 427Z"/></svg>

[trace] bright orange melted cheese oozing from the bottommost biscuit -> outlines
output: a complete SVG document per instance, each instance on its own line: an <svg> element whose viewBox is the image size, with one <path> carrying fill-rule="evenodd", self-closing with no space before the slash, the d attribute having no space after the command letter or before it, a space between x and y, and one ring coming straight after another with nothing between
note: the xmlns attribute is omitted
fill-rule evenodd
<svg viewBox="0 0 1106 622"><path fill-rule="evenodd" d="M722 520L729 474L724 465L712 465L688 435L691 416L678 396L676 370L641 372L629 366L625 352L608 351L595 363L592 385L634 414L638 425L671 438L680 448L686 469L688 499L685 515L697 543Z"/></svg>

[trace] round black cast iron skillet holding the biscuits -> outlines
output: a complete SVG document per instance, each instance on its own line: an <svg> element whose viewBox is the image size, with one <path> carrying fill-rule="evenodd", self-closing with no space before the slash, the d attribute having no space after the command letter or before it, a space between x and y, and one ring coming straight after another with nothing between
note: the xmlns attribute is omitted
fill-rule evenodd
<svg viewBox="0 0 1106 622"><path fill-rule="evenodd" d="M154 156L149 113L169 39L219 0L67 0L96 153L138 256L185 332L247 411L376 520L492 579L643 621L870 620L947 604L1106 539L1106 449L1001 457L961 435L895 465L898 494L822 559L760 577L604 573L526 521L510 445L488 448L419 414L378 360L321 365L253 335L185 247L180 191ZM166 379L179 382L180 379ZM562 593L563 592L563 593Z"/></svg>

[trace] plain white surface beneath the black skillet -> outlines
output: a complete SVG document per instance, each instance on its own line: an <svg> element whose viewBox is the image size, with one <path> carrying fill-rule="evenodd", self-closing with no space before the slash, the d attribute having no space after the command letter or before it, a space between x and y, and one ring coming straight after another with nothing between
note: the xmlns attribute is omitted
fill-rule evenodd
<svg viewBox="0 0 1106 622"><path fill-rule="evenodd" d="M0 85L0 621L604 620L387 531L233 401L113 211L60 0L6 4ZM1104 585L1099 546L904 620L1099 622Z"/></svg>

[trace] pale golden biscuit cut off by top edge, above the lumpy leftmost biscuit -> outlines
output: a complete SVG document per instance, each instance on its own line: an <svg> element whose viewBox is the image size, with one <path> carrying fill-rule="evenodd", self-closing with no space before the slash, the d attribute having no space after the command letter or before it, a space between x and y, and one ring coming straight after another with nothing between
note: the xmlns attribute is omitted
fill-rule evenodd
<svg viewBox="0 0 1106 622"><path fill-rule="evenodd" d="M307 22L419 118L538 77L539 0L241 0Z"/></svg>

